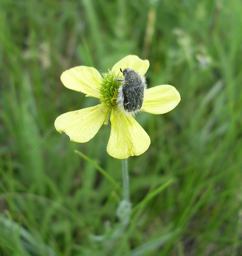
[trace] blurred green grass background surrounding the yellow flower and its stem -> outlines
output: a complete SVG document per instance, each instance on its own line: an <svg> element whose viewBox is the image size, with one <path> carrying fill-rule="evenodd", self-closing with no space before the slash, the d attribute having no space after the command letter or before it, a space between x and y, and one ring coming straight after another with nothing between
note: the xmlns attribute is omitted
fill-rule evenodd
<svg viewBox="0 0 242 256"><path fill-rule="evenodd" d="M95 167L121 185L110 124L76 144L54 121L98 102L65 88L64 70L128 54L181 102L137 117L151 139L129 158L141 203L110 239L121 192ZM0 97L0 255L242 255L241 0L1 0Z"/></svg>

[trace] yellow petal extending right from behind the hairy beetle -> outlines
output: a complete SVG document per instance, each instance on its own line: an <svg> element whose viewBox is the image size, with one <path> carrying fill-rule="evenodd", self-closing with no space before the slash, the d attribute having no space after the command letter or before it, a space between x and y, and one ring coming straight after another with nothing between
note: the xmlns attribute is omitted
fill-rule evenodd
<svg viewBox="0 0 242 256"><path fill-rule="evenodd" d="M151 114L164 114L171 111L180 102L176 88L165 84L147 89L141 110Z"/></svg>

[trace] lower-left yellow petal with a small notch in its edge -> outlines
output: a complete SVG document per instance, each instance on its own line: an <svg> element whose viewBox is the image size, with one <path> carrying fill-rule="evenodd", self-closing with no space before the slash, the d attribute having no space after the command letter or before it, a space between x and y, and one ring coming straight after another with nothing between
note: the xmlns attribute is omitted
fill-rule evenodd
<svg viewBox="0 0 242 256"><path fill-rule="evenodd" d="M107 107L104 104L67 112L57 117L55 129L59 133L65 132L74 142L87 142L98 132L106 114Z"/></svg>

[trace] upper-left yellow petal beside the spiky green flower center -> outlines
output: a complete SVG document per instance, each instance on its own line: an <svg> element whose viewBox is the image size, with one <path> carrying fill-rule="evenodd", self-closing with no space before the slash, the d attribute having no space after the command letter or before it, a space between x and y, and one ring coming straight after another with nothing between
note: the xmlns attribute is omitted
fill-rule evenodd
<svg viewBox="0 0 242 256"><path fill-rule="evenodd" d="M61 81L69 89L95 98L100 97L97 88L101 81L101 75L95 68L85 66L71 68L62 73Z"/></svg>

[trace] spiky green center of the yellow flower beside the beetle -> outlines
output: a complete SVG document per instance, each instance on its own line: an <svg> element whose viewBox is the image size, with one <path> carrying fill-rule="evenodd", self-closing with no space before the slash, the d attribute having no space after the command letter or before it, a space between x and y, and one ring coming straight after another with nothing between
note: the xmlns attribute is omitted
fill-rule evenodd
<svg viewBox="0 0 242 256"><path fill-rule="evenodd" d="M105 102L109 107L113 107L117 102L118 88L122 84L116 78L121 79L121 76L117 77L114 71L111 72L110 70L108 70L108 73L102 73L102 76L99 88L101 101Z"/></svg>

